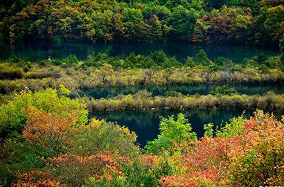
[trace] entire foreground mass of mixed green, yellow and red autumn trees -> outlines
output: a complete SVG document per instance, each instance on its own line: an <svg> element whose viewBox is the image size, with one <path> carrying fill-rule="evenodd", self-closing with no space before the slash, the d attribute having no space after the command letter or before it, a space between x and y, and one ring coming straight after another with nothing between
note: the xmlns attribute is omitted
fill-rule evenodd
<svg viewBox="0 0 284 187"><path fill-rule="evenodd" d="M63 89L63 88L62 88ZM67 93L66 91L63 91ZM69 103L57 111L37 97ZM28 98L26 98L28 97ZM34 105L21 106L23 100ZM54 100L56 98L56 100ZM77 106L77 107L74 107ZM7 107L22 116L21 131L1 144L2 186L281 186L284 183L284 116L262 111L233 118L197 139L184 114L161 118L161 134L145 150L127 127L84 118L80 105L55 91L26 93ZM5 111L1 107L1 112ZM4 113L3 113L4 114ZM79 118L80 116L80 118ZM7 116L4 116L7 118ZM16 118L10 119L14 124ZM5 121L2 121L1 124ZM17 129L15 129L17 130ZM144 154L142 154L142 151Z"/></svg>

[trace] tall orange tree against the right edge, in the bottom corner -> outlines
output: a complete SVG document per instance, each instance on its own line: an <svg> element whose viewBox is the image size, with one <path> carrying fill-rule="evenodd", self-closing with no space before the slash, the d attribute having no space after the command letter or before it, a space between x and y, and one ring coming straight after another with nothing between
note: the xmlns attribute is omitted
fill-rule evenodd
<svg viewBox="0 0 284 187"><path fill-rule="evenodd" d="M239 142L238 146L229 154L231 157L229 175L232 184L282 185L284 182L283 123L276 121L274 116L258 111L244 126L244 132L234 140Z"/></svg>

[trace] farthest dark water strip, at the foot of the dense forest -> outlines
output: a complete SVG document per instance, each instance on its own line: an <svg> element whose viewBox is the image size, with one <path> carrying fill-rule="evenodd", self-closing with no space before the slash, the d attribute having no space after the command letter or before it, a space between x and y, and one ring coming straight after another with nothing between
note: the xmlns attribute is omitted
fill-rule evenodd
<svg viewBox="0 0 284 187"><path fill-rule="evenodd" d="M185 62L186 57L195 56L200 49L206 51L211 60L219 56L227 57L235 63L240 63L245 57L254 57L263 53L267 57L278 55L278 48L256 46L226 46L226 45L196 45L196 44L137 44L137 43L112 43L112 44L86 44L86 43L60 43L47 42L15 42L0 40L0 57L7 59L10 55L27 58L35 61L48 57L65 58L75 54L78 59L86 60L88 55L107 53L125 59L130 53L136 55L150 55L154 51L163 50L168 57L175 56L179 62Z"/></svg>

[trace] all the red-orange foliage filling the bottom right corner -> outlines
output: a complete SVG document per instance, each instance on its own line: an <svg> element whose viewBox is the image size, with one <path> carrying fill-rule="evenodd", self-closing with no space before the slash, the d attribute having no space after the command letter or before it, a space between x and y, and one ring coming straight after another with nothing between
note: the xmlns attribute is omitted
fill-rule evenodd
<svg viewBox="0 0 284 187"><path fill-rule="evenodd" d="M284 121L284 116L283 120ZM165 159L176 170L161 186L278 186L284 184L284 125L255 112L232 138L204 138L175 146ZM170 150L177 152L177 149Z"/></svg>

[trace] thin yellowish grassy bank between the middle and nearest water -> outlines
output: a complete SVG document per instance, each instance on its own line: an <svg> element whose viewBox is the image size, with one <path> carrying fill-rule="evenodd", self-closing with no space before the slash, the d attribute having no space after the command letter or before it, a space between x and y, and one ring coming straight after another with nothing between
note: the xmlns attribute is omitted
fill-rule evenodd
<svg viewBox="0 0 284 187"><path fill-rule="evenodd" d="M123 110L150 110L150 109L262 109L270 112L284 111L284 95L276 95L272 91L263 96L245 94L219 95L211 94L200 96L184 96L180 93L172 96L151 96L152 93L142 90L136 94L118 95L114 98L83 97L87 109L91 112L114 112Z"/></svg>

